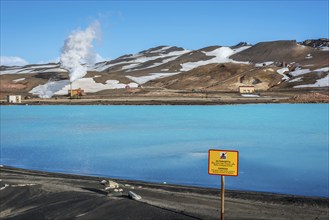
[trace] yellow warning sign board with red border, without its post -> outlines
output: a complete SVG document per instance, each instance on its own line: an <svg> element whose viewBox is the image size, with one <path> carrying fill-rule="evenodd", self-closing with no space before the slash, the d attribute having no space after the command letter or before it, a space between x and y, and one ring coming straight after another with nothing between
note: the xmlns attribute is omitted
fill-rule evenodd
<svg viewBox="0 0 329 220"><path fill-rule="evenodd" d="M208 173L211 175L237 176L239 151L209 150Z"/></svg>

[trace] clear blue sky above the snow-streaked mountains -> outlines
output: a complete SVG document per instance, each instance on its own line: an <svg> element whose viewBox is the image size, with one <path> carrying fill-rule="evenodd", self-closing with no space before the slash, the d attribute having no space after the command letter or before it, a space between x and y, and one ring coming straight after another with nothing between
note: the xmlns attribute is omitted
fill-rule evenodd
<svg viewBox="0 0 329 220"><path fill-rule="evenodd" d="M159 45L199 49L246 41L328 38L328 0L9 1L1 0L1 56L40 63L59 57L66 37L95 20L103 58Z"/></svg>

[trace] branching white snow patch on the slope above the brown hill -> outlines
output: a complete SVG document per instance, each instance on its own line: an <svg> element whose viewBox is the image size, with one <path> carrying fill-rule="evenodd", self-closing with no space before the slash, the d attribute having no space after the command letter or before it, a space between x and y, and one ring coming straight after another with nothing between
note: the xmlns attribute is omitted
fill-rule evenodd
<svg viewBox="0 0 329 220"><path fill-rule="evenodd" d="M192 70L194 68L197 68L199 66L204 66L207 64L211 64L211 63L244 63L244 64L248 64L249 62L239 62L239 61L235 61L230 59L229 57L232 56L233 54L239 53L243 50L246 50L248 48L250 48L251 46L244 46L244 47L240 47L237 49L231 49L229 47L220 47L217 48L213 51L210 52L203 52L204 54L206 54L207 56L214 56L214 58L209 59L209 60L201 60L201 61L197 61L197 62L187 62L187 63L183 63L181 64L182 68L180 69L180 71L189 71Z"/></svg>

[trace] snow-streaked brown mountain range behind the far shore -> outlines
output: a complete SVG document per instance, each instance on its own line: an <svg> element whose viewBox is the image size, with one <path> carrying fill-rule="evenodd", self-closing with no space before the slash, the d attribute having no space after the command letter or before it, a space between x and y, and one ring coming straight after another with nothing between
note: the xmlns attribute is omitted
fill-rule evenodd
<svg viewBox="0 0 329 220"><path fill-rule="evenodd" d="M86 93L136 88L237 91L242 85L269 89L328 88L328 39L261 42L187 50L159 46L88 66L73 83ZM65 95L68 72L59 63L1 66L1 95Z"/></svg>

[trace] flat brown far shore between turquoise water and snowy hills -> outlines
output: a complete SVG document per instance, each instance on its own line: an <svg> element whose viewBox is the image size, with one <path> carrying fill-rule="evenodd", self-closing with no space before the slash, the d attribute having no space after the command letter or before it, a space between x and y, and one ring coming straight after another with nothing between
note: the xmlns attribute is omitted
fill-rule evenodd
<svg viewBox="0 0 329 220"><path fill-rule="evenodd" d="M187 90L143 90L143 92L127 92L115 90L90 93L75 99L68 96L38 98L25 93L21 95L21 103L8 103L5 99L9 93L0 93L0 105L237 105L237 104L277 104L277 103L329 103L329 90L314 88L312 90L262 91L247 96L232 91ZM250 94L249 94L250 95Z"/></svg>

